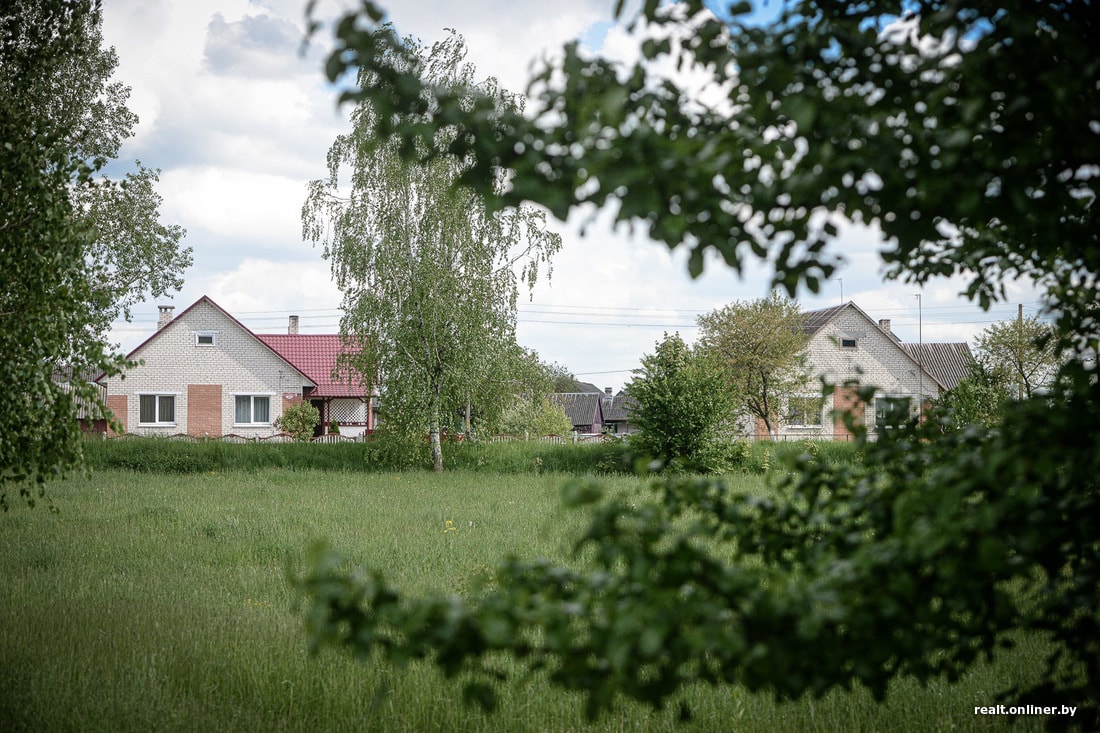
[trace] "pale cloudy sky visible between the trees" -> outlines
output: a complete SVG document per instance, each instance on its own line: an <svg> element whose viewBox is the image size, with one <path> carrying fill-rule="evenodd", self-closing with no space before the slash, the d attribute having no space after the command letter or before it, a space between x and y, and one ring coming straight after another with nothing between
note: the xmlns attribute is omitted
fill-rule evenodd
<svg viewBox="0 0 1100 733"><path fill-rule="evenodd" d="M105 0L105 43L116 47L116 76L131 87L135 134L120 163L161 171L162 218L187 230L194 265L179 293L140 304L111 339L123 352L156 326L157 306L176 313L208 295L255 332L285 332L289 315L304 333L339 329L341 293L330 263L301 237L307 183L326 173L326 153L348 130L322 65L326 28L302 53L305 0ZM321 0L331 21L350 2ZM522 91L532 64L581 40L594 52L628 58L630 44L612 20L614 0L391 0L382 4L402 35L426 43L460 32L469 61L484 76ZM622 389L664 332L692 342L697 316L735 300L763 297L769 273L737 276L716 260L692 280L686 253L640 232L613 228L597 214L551 218L563 248L552 275L520 297L517 339L579 380ZM889 318L903 341L968 341L990 324L1014 318L1018 304L1037 315L1026 284L982 311L959 295L963 284L923 287L882 278L873 230L842 229L834 243L846 264L821 293L799 293L805 309L855 302Z"/></svg>

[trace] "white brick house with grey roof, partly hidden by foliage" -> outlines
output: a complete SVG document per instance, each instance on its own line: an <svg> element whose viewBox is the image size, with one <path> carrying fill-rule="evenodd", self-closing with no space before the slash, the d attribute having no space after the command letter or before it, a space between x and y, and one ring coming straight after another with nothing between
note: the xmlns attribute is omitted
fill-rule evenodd
<svg viewBox="0 0 1100 733"><path fill-rule="evenodd" d="M810 337L806 366L812 381L802 394L788 395L780 419L780 439L847 439L849 433L834 409L851 409L869 430L882 428L888 417L916 416L921 405L935 400L964 379L974 361L966 343L902 343L889 320L875 321L855 303L803 314ZM821 380L837 385L827 401ZM858 381L875 387L871 404L864 404ZM761 425L758 437L767 437Z"/></svg>

